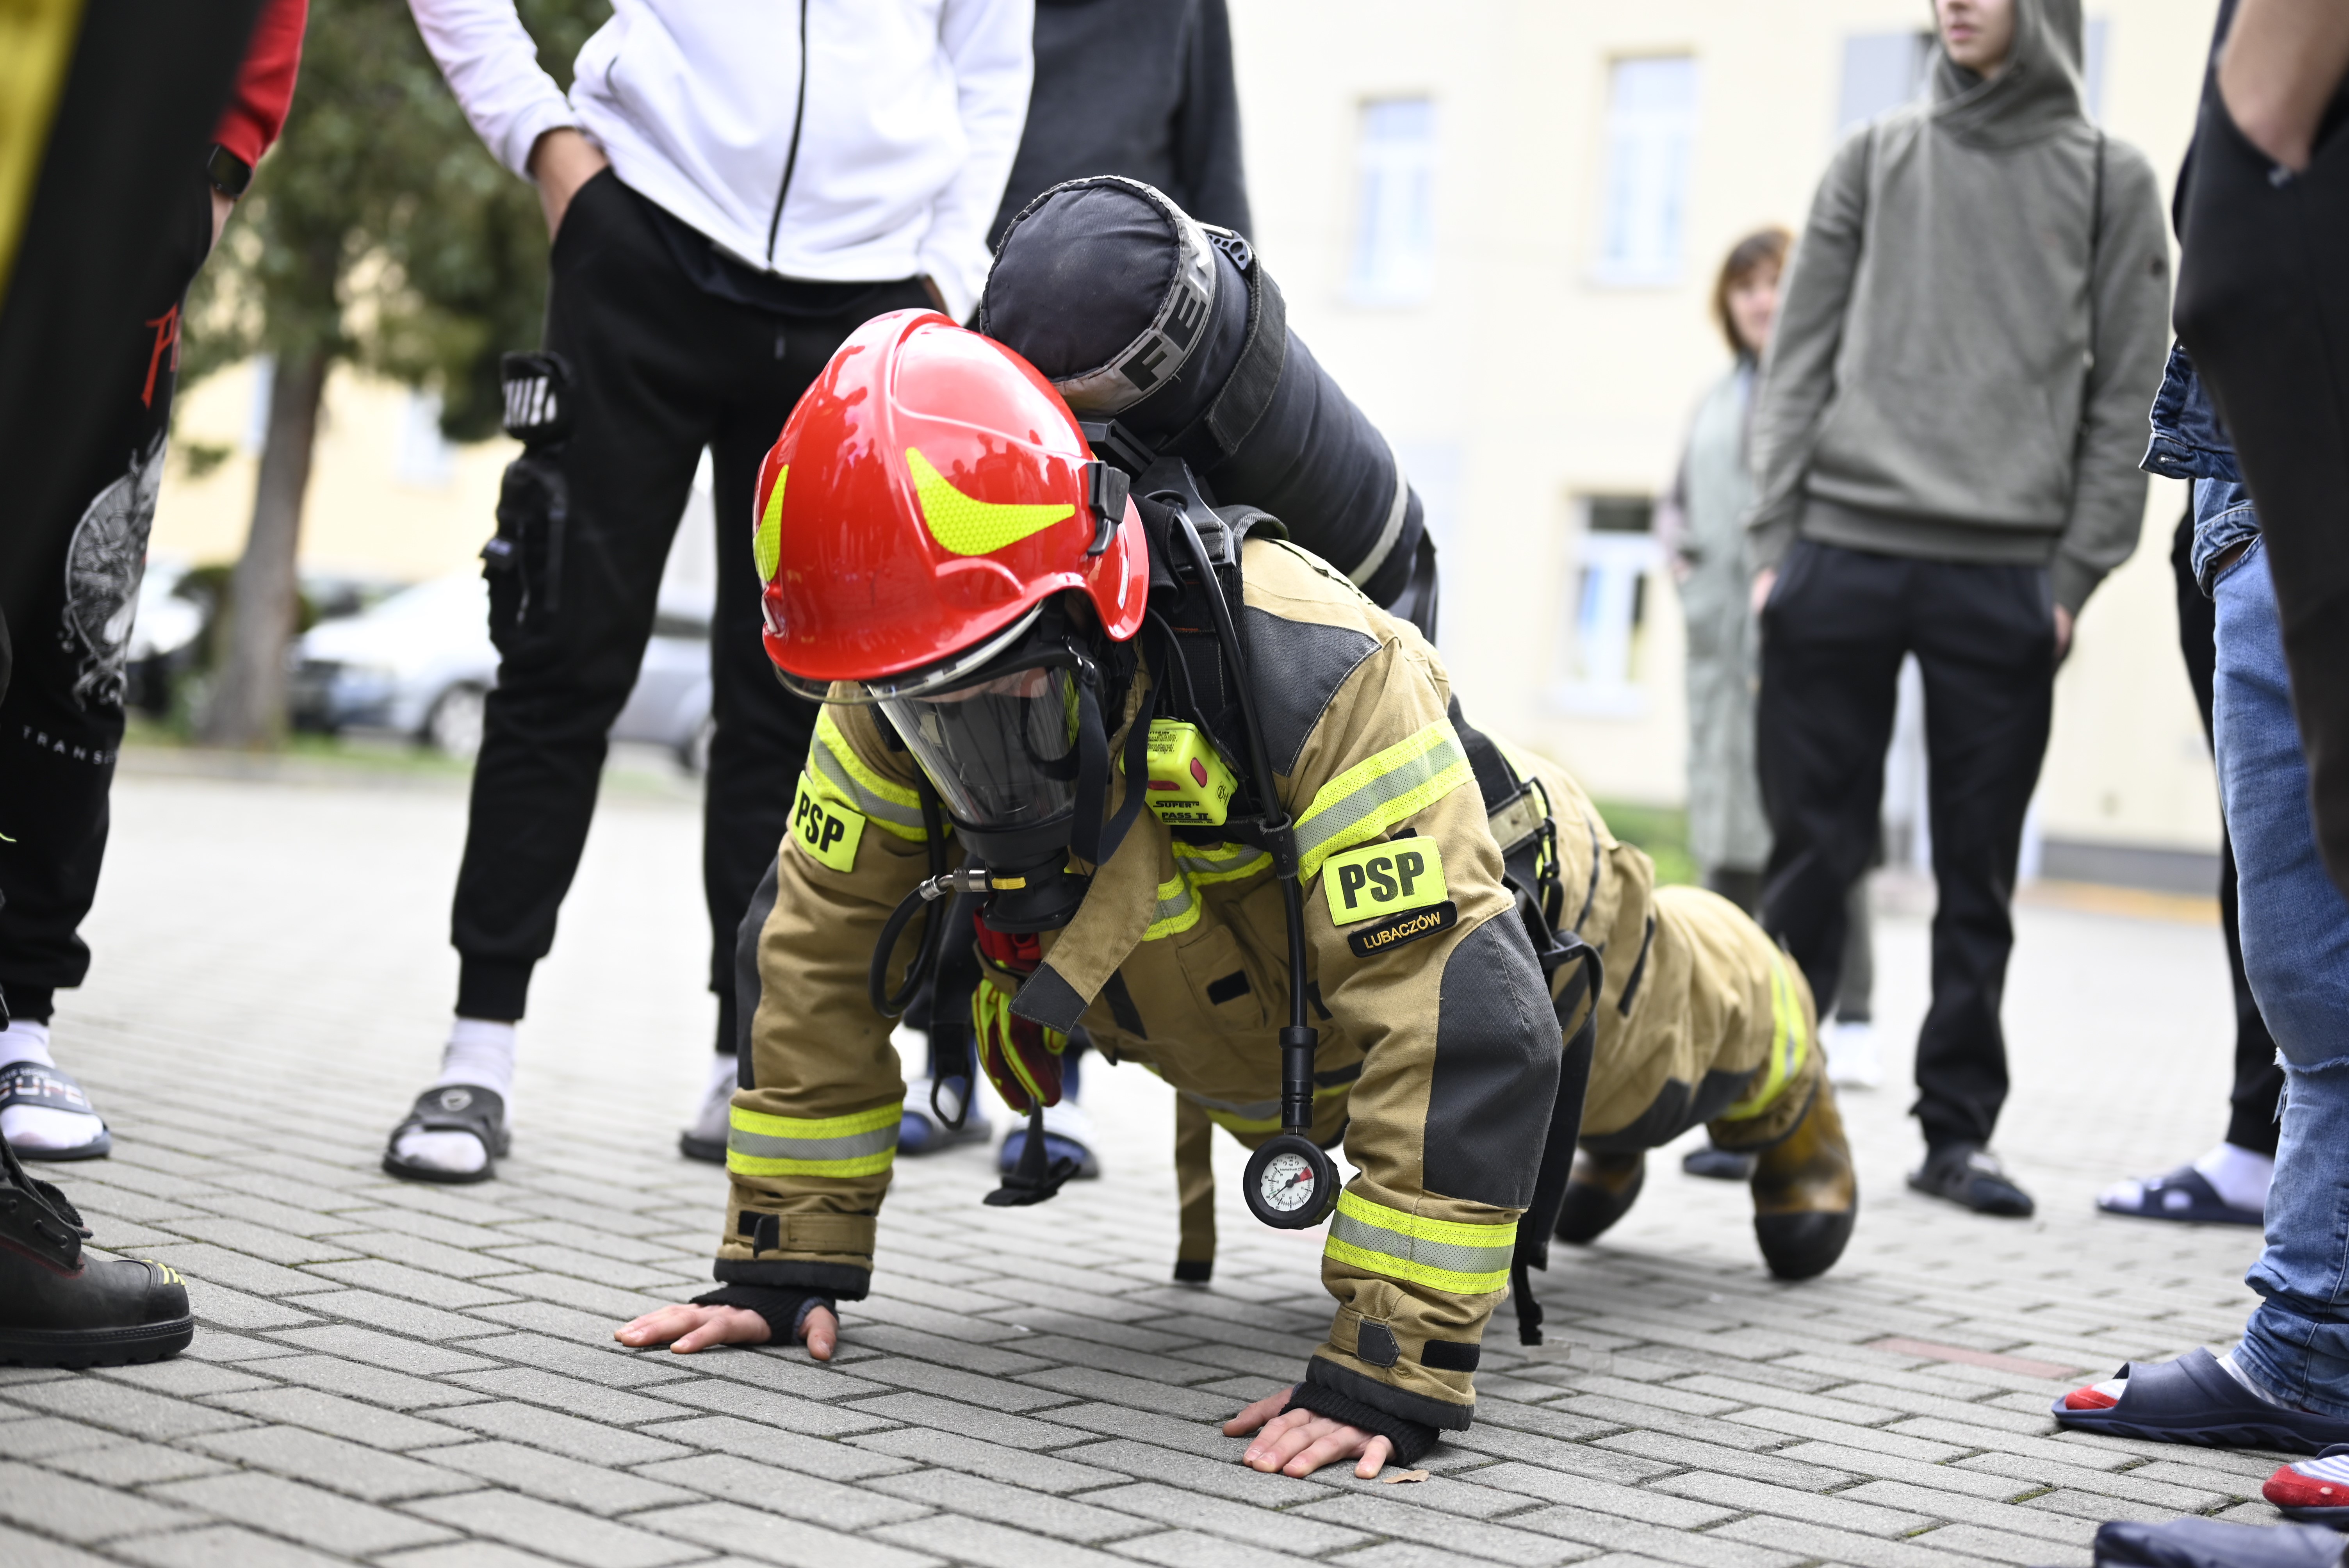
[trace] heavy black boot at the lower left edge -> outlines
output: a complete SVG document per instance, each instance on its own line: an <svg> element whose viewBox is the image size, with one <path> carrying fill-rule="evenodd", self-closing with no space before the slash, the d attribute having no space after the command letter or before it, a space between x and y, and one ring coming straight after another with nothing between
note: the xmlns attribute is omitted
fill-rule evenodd
<svg viewBox="0 0 2349 1568"><path fill-rule="evenodd" d="M188 1286L162 1263L85 1258L66 1195L0 1141L0 1366L122 1366L195 1338Z"/></svg>

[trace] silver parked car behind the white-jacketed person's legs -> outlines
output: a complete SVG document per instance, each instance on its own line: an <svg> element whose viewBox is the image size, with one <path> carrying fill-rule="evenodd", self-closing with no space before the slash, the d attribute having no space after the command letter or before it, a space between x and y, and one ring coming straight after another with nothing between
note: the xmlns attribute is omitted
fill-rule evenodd
<svg viewBox="0 0 2349 1568"><path fill-rule="evenodd" d="M329 620L294 646L291 707L303 730L390 730L446 756L482 749L482 716L498 683L489 584L451 573ZM660 615L615 742L648 742L698 772L709 756L709 624Z"/></svg>

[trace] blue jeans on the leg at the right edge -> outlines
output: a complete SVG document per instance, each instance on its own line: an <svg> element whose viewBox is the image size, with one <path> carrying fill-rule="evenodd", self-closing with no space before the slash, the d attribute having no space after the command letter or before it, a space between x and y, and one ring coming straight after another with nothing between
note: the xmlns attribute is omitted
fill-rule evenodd
<svg viewBox="0 0 2349 1568"><path fill-rule="evenodd" d="M2243 1277L2262 1300L2236 1364L2279 1399L2349 1420L2349 899L2316 857L2264 542L2220 573L2213 599L2243 972L2286 1077L2267 1249Z"/></svg>

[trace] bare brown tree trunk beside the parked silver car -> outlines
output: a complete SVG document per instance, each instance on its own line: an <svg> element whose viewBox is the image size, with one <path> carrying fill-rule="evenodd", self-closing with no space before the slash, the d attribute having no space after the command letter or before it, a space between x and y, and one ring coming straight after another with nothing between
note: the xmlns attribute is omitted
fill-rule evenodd
<svg viewBox="0 0 2349 1568"><path fill-rule="evenodd" d="M228 648L200 732L207 746L272 746L284 737L287 646L301 606L301 505L310 488L310 448L329 364L324 347L277 361L270 434L254 486L254 528L230 580Z"/></svg>

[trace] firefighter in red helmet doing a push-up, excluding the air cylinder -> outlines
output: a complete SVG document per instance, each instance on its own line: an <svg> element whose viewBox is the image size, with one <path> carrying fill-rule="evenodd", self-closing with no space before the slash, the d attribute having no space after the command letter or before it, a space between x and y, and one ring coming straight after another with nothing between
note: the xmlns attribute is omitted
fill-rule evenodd
<svg viewBox="0 0 2349 1568"><path fill-rule="evenodd" d="M768 455L754 549L768 655L827 704L745 920L721 1289L622 1343L832 1354L895 1157L886 1012L947 941L977 944L980 1066L1015 1108L1083 1028L1257 1150L1259 1218L1325 1223L1327 1340L1226 1427L1261 1427L1259 1469L1377 1474L1468 1427L1513 1275L1539 1333L1525 1268L1560 1209L1628 1207L1604 1169L1569 1181L1576 1131L1621 1164L1710 1120L1762 1155L1771 1268L1842 1251L1811 998L1759 927L1656 890L1273 519L1097 460L1001 343L933 312L850 336ZM1066 1174L1031 1134L989 1202Z"/></svg>

